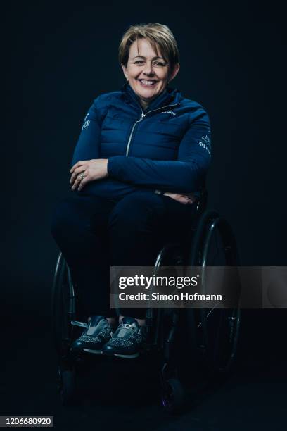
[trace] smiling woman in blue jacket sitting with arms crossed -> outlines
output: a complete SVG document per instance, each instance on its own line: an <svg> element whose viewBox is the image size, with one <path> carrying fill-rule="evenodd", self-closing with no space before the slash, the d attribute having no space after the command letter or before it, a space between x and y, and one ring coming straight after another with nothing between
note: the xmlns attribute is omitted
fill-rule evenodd
<svg viewBox="0 0 287 431"><path fill-rule="evenodd" d="M51 232L88 320L72 351L134 358L145 311L116 321L110 266L153 266L161 246L184 235L210 163L210 123L168 87L179 51L166 25L129 27L119 59L127 82L98 96L84 118L70 170L77 196L58 205Z"/></svg>

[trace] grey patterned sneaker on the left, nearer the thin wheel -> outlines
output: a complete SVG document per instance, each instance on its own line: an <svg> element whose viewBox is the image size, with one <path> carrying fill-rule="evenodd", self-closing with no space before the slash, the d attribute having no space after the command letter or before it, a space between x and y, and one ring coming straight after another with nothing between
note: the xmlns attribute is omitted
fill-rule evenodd
<svg viewBox="0 0 287 431"><path fill-rule="evenodd" d="M72 342L70 352L72 354L87 351L93 354L101 354L103 345L112 336L112 327L103 316L91 316L81 337Z"/></svg>

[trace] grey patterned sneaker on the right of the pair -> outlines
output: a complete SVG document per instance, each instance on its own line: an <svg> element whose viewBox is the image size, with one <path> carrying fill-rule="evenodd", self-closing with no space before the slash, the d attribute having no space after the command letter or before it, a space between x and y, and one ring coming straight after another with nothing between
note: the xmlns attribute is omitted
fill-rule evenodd
<svg viewBox="0 0 287 431"><path fill-rule="evenodd" d="M113 337L103 346L103 354L120 358L137 358L141 344L146 341L146 326L140 326L136 319L122 319Z"/></svg>

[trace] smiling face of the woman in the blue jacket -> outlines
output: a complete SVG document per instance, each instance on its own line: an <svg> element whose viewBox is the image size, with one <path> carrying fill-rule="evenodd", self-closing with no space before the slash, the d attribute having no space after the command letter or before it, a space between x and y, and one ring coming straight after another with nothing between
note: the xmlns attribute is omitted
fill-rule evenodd
<svg viewBox="0 0 287 431"><path fill-rule="evenodd" d="M129 85L139 96L141 106L146 108L177 75L179 64L174 66L174 70L170 70L170 63L165 61L159 49L156 54L147 39L139 39L129 47L127 67L122 65L122 70Z"/></svg>

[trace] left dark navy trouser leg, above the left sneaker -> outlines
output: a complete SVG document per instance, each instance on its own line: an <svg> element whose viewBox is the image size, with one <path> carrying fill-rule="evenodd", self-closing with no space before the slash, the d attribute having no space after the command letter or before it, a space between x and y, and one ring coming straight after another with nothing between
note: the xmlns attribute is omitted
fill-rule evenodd
<svg viewBox="0 0 287 431"><path fill-rule="evenodd" d="M114 205L96 196L75 196L61 201L53 215L51 233L70 267L82 316L115 316L107 230Z"/></svg>

